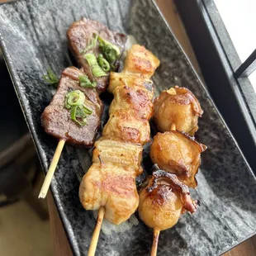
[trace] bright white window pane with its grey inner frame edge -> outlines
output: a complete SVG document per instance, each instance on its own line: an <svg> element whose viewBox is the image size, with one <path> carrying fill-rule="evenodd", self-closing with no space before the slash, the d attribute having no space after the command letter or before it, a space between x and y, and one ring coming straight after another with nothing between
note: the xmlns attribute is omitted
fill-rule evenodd
<svg viewBox="0 0 256 256"><path fill-rule="evenodd" d="M197 0L198 1L198 0ZM256 1L199 0L220 40L244 104L256 124ZM233 85L234 86L234 85ZM247 114L247 113L244 113Z"/></svg>

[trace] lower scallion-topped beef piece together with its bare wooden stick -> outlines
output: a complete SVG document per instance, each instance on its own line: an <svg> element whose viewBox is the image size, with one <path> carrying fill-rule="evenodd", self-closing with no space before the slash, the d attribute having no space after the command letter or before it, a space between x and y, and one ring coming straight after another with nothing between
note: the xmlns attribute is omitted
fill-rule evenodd
<svg viewBox="0 0 256 256"><path fill-rule="evenodd" d="M102 116L102 102L96 90L83 85L87 76L75 67L64 69L59 87L41 116L45 132L59 139L39 197L45 198L64 144L93 145ZM92 86L92 85L91 85Z"/></svg>

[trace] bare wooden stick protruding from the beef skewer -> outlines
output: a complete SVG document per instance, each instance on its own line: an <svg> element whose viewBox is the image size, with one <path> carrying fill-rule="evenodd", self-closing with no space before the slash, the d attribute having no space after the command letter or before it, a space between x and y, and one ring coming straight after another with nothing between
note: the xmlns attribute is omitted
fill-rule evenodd
<svg viewBox="0 0 256 256"><path fill-rule="evenodd" d="M55 150L55 155L54 155L53 159L51 160L50 168L49 168L49 170L46 174L45 181L43 183L43 186L41 187L38 198L45 198L46 197L46 194L47 194L48 189L50 187L51 179L54 176L56 166L59 162L60 154L62 152L62 149L64 148L64 144L65 144L65 140L59 140L57 149Z"/></svg>

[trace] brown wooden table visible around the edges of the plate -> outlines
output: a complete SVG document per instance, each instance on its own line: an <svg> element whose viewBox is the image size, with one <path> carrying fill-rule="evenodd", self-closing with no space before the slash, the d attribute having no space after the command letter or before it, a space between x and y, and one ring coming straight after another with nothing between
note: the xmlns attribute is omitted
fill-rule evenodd
<svg viewBox="0 0 256 256"><path fill-rule="evenodd" d="M189 0L188 0L189 1ZM177 9L173 3L173 0L156 0L159 5L161 12L171 26L174 35L178 39L179 43L183 46L183 50L186 52L187 57L191 60L192 65L196 69L199 76L201 71L197 64L197 59L193 53L192 46L187 38L186 31L183 27L183 22L178 16ZM203 80L203 79L202 79ZM69 241L65 235L63 225L59 220L59 214L56 210L55 203L52 195L49 193L48 206L50 213L50 227L53 236L55 255L70 256L72 251L69 246ZM225 256L255 256L256 255L256 235L253 238L247 239L244 243L239 244L235 249L224 254Z"/></svg>

